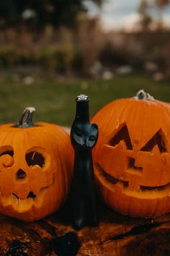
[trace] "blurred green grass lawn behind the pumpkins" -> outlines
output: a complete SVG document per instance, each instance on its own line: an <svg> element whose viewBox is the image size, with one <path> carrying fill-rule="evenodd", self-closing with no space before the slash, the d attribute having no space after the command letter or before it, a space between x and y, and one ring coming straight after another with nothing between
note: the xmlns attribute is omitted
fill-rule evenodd
<svg viewBox="0 0 170 256"><path fill-rule="evenodd" d="M63 80L50 74L34 74L31 85L24 74L0 71L0 123L18 121L27 106L35 106L35 121L48 121L71 126L75 114L75 98L89 95L91 117L106 103L116 98L128 98L140 89L162 101L170 102L170 83L154 82L142 75L115 77L112 80Z"/></svg>

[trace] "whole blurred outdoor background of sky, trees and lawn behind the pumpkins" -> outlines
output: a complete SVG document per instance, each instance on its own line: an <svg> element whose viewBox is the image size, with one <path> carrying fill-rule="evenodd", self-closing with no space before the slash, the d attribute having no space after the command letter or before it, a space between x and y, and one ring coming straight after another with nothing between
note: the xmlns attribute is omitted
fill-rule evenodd
<svg viewBox="0 0 170 256"><path fill-rule="evenodd" d="M0 123L35 106L35 121L71 126L145 89L170 102L169 0L0 1Z"/></svg>

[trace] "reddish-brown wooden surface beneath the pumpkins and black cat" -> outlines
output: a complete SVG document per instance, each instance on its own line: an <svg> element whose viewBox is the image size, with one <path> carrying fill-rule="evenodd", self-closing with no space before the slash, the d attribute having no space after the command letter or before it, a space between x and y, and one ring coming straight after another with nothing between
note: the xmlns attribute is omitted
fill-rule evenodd
<svg viewBox="0 0 170 256"><path fill-rule="evenodd" d="M55 252L61 256L170 255L170 214L139 219L121 216L102 202L98 207L99 225L84 227L81 231L74 231L70 224L68 204L52 216L34 223L0 215L0 255L57 255ZM79 243L71 234L71 241L68 239L68 244L62 248L57 236L70 231L75 232ZM79 251L71 254L78 247Z"/></svg>

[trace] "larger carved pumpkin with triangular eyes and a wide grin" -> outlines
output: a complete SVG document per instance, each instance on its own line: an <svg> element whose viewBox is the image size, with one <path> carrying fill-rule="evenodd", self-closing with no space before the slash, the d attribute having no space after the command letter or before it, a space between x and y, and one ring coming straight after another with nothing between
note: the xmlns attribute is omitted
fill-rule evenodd
<svg viewBox="0 0 170 256"><path fill-rule="evenodd" d="M94 174L104 201L140 217L170 211L170 105L140 90L92 119L99 127Z"/></svg>

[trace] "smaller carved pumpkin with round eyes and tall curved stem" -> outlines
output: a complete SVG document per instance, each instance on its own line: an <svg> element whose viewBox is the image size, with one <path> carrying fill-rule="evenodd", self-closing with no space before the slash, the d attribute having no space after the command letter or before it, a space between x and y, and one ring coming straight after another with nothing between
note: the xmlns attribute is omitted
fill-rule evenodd
<svg viewBox="0 0 170 256"><path fill-rule="evenodd" d="M33 124L26 108L17 125L0 127L0 213L35 221L63 204L73 169L69 135L55 124Z"/></svg>

